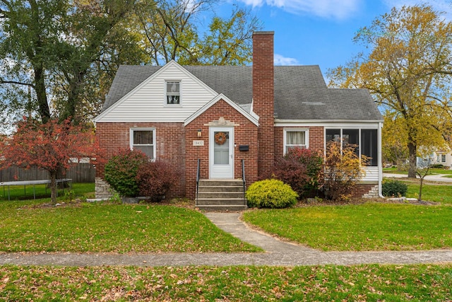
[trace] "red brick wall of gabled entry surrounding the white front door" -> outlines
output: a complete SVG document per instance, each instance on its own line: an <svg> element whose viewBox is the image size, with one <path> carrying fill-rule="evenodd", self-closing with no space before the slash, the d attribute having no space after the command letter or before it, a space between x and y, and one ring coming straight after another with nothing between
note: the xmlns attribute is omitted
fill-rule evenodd
<svg viewBox="0 0 452 302"><path fill-rule="evenodd" d="M234 178L242 178L242 159L244 159L246 182L251 184L257 180L257 127L224 100L219 100L186 125L186 197L195 198L198 158L201 159L201 178L209 178L208 123L218 121L220 117L227 122L239 125L234 127L234 144L236 145L234 147ZM197 137L198 129L202 131L201 138ZM203 140L204 146L193 146L194 140ZM239 151L239 145L249 145L249 151Z"/></svg>

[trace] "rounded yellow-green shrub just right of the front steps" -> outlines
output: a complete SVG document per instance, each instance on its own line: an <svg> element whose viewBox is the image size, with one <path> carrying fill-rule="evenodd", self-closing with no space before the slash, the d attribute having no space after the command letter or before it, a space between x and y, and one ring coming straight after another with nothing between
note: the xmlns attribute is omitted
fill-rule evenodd
<svg viewBox="0 0 452 302"><path fill-rule="evenodd" d="M281 180L260 180L246 190L249 207L281 209L297 203L298 194Z"/></svg>

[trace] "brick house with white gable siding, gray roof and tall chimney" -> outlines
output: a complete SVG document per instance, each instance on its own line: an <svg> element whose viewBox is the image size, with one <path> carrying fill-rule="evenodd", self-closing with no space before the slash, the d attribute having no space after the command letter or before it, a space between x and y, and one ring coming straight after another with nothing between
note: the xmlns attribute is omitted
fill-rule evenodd
<svg viewBox="0 0 452 302"><path fill-rule="evenodd" d="M370 156L357 194L381 192L383 118L367 90L331 89L319 66L274 66L273 32L253 36L252 66L120 66L96 136L111 156L136 148L182 173L169 197L196 196L203 180L258 180L300 146L345 139ZM243 161L242 161L243 160ZM96 194L105 197L103 167Z"/></svg>

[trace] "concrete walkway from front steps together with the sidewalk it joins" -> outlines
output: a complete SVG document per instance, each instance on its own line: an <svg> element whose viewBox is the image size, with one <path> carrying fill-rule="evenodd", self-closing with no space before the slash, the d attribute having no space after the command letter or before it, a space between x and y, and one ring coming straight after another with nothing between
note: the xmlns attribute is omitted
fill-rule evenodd
<svg viewBox="0 0 452 302"><path fill-rule="evenodd" d="M206 213L219 228L246 242L257 245L263 253L171 253L171 254L111 254L111 253L6 253L0 254L0 265L61 265L61 266L188 266L188 265L360 265L452 263L452 250L419 252L321 252L285 243L254 231L239 220L238 213Z"/></svg>

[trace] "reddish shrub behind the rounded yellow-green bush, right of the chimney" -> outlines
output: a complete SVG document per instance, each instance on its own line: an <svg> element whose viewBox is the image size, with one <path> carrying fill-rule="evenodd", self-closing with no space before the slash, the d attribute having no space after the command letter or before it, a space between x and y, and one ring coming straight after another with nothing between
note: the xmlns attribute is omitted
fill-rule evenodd
<svg viewBox="0 0 452 302"><path fill-rule="evenodd" d="M266 176L287 183L302 198L319 187L322 164L319 152L293 148L275 162L273 171Z"/></svg>

